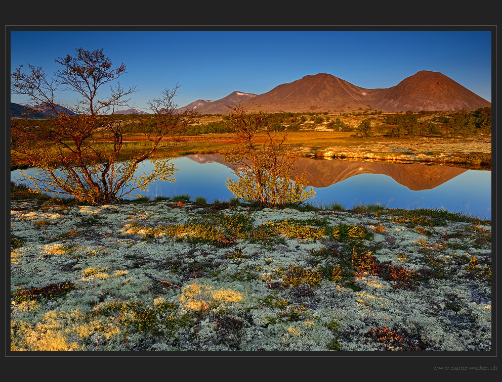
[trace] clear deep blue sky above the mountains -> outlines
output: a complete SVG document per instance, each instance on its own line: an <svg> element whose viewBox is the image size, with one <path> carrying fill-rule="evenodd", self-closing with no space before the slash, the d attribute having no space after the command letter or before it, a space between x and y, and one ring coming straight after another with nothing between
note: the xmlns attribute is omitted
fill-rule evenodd
<svg viewBox="0 0 502 382"><path fill-rule="evenodd" d="M19 30L18 30L19 29ZM26 28L28 29L28 28ZM388 88L421 70L441 72L491 102L490 30L10 30L10 73L41 66L49 78L75 49L103 49L124 63L130 107L180 87L178 107L216 101L237 90L262 94L306 75L328 73L363 88ZM103 96L109 86L103 88ZM76 95L59 94L61 104ZM11 95L11 102L27 99Z"/></svg>

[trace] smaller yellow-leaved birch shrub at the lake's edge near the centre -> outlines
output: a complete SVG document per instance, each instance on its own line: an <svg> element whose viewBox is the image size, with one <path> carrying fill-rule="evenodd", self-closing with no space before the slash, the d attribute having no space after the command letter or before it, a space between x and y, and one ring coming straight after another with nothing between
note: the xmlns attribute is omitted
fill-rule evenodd
<svg viewBox="0 0 502 382"><path fill-rule="evenodd" d="M272 135L265 125L264 113L246 113L236 107L229 121L238 143L224 159L238 168L234 170L237 180L229 177L226 184L238 199L276 208L290 203L299 205L314 197L312 188L306 190L305 171L294 174L298 156L284 147L287 134ZM257 135L262 130L266 137L264 144L259 145Z"/></svg>

